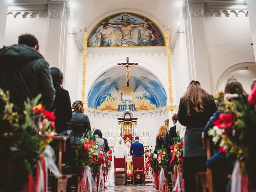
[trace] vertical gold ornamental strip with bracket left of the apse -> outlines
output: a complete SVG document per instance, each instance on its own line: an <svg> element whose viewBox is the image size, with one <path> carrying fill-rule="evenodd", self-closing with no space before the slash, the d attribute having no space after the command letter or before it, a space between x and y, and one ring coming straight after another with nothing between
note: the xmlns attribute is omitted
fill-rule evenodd
<svg viewBox="0 0 256 192"><path fill-rule="evenodd" d="M82 27L78 32L73 32L73 33L68 33L72 35L76 35L80 33L81 31L84 32L83 36L83 69L82 69L82 96L81 96L81 101L83 105L85 104L85 85L86 85L86 57L87 57L87 32L88 28L87 27ZM85 106L85 105L84 105ZM84 107L84 112L90 112L90 109L88 107ZM91 112L90 112L91 114Z"/></svg>

